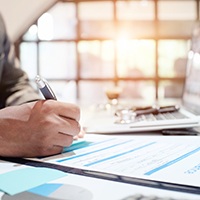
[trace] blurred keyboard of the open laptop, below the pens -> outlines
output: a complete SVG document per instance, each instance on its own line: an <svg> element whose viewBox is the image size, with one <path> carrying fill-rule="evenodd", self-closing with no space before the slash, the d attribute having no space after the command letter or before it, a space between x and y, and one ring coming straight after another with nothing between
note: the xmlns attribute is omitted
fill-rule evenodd
<svg viewBox="0 0 200 200"><path fill-rule="evenodd" d="M156 121L156 120L166 120L166 119L186 119L187 116L183 115L179 111L176 112L166 112L159 114L143 114L135 117L134 121Z"/></svg>

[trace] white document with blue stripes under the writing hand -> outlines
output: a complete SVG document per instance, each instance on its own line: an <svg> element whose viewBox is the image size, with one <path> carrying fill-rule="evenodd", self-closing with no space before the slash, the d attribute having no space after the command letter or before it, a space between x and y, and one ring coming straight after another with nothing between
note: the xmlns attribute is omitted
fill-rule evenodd
<svg viewBox="0 0 200 200"><path fill-rule="evenodd" d="M200 137L87 135L57 165L200 187Z"/></svg>

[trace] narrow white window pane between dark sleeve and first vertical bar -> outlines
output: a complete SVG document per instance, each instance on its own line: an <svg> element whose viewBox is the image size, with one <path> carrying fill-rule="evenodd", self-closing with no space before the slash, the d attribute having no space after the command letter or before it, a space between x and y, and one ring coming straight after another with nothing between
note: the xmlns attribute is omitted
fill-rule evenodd
<svg viewBox="0 0 200 200"><path fill-rule="evenodd" d="M37 44L22 42L20 44L20 63L30 79L37 75Z"/></svg>

